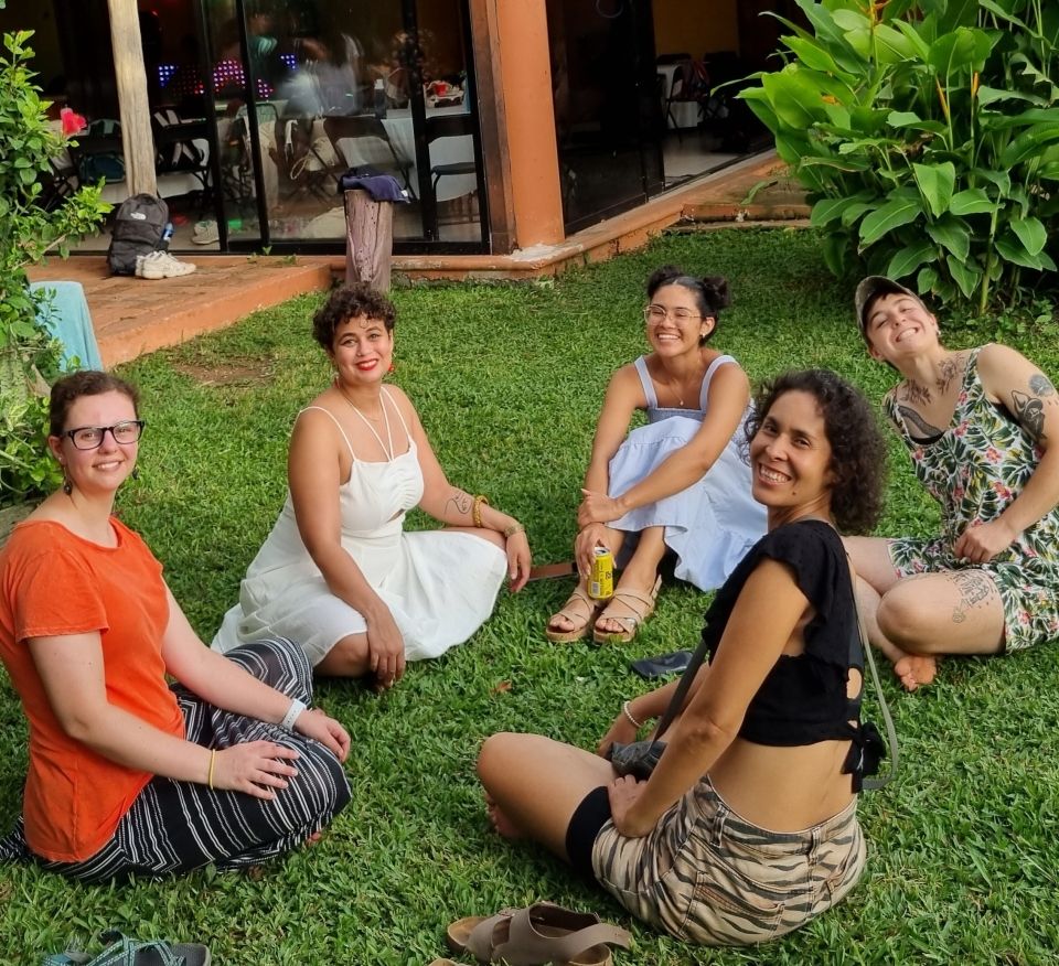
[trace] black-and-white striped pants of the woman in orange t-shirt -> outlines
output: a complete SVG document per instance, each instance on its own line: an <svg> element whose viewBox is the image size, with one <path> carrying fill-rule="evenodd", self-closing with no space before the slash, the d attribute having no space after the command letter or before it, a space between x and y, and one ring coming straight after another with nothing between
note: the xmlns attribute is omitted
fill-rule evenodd
<svg viewBox="0 0 1059 966"><path fill-rule="evenodd" d="M226 655L254 677L291 698L312 700L312 668L304 652L285 638L257 641ZM115 877L161 877L213 862L220 869L257 865L302 845L350 801L339 760L322 744L278 724L245 718L207 705L179 684L172 686L184 715L189 741L217 750L246 741L271 741L298 752L298 774L271 801L243 792L156 775L118 823L111 839L81 862L33 856L22 820L3 841L0 859L29 858L73 879L98 882Z"/></svg>

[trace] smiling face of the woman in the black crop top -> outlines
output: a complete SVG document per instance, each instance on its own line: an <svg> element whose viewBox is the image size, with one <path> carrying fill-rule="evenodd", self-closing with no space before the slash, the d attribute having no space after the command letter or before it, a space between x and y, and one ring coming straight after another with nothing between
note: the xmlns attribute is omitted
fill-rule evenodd
<svg viewBox="0 0 1059 966"><path fill-rule="evenodd" d="M828 516L831 442L812 393L778 396L750 440L753 498L769 508L770 526L801 516Z"/></svg>

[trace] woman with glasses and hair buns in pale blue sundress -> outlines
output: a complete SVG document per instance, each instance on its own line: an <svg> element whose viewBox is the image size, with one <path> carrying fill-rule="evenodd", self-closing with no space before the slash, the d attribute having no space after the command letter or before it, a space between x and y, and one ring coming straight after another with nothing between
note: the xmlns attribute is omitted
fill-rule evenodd
<svg viewBox="0 0 1059 966"><path fill-rule="evenodd" d="M713 590L764 534L741 430L747 376L707 345L729 303L728 283L667 265L648 280L648 302L654 351L618 369L607 387L577 513L581 579L548 622L550 641L577 641L589 630L598 643L631 641L654 610L666 550L677 578ZM637 409L648 425L625 436ZM597 547L623 566L609 602L587 591Z"/></svg>

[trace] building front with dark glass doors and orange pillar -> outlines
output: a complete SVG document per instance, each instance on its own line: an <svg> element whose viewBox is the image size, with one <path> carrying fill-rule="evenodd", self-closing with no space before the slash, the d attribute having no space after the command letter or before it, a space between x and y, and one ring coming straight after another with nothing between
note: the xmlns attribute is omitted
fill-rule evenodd
<svg viewBox="0 0 1059 966"><path fill-rule="evenodd" d="M185 245L276 253L341 248L350 168L406 192L398 253L506 254L643 204L763 146L710 87L768 66L781 25L758 14L795 17L793 0L17 7L0 29L34 30L45 93L96 121L75 168L124 153L109 198L157 185Z"/></svg>

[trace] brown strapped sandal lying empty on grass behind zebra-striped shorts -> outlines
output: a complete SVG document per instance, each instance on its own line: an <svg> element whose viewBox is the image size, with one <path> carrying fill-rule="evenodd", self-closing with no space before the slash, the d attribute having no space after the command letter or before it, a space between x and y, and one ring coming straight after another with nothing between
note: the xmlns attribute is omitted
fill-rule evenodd
<svg viewBox="0 0 1059 966"><path fill-rule="evenodd" d="M468 916L448 930L453 952L507 966L611 966L607 944L628 949L630 940L625 930L600 922L595 912L575 912L552 902L505 909L488 919Z"/></svg>

